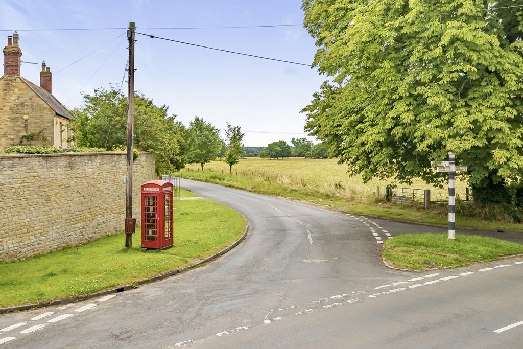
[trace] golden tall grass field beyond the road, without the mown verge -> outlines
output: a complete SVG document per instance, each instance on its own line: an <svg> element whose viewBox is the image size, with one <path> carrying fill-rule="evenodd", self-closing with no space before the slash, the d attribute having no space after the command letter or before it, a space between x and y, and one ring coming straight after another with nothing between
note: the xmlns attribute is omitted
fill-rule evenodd
<svg viewBox="0 0 523 349"><path fill-rule="evenodd" d="M304 194L317 196L319 200L338 199L347 202L365 202L372 204L381 201L378 198L384 194L386 185L392 180L380 181L373 179L363 184L360 176L349 176L345 165L337 164L335 159L316 160L290 158L285 160L268 160L248 158L242 159L233 167L232 175L229 167L221 161L212 161L201 171L198 164L189 164L180 171L180 176L198 181L218 183L231 187L250 190L271 195L293 196ZM456 181L456 192L465 197L466 183ZM431 190L434 201L447 200L447 189L427 185L420 179L415 179L411 187Z"/></svg>

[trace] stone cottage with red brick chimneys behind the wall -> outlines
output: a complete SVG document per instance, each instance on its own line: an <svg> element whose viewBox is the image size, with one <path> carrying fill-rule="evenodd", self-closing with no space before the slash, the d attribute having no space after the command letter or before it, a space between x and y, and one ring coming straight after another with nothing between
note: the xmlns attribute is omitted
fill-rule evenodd
<svg viewBox="0 0 523 349"><path fill-rule="evenodd" d="M19 36L7 38L0 77L0 151L17 144L68 148L73 116L51 94L51 70L42 62L40 86L20 76Z"/></svg>

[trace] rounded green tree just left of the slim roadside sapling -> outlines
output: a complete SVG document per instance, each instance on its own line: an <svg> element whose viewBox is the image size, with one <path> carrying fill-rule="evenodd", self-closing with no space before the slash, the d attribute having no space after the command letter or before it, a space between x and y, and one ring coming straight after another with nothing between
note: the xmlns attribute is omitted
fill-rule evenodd
<svg viewBox="0 0 523 349"><path fill-rule="evenodd" d="M222 149L220 130L195 116L190 122L189 132L191 142L187 161L190 164L200 164L203 171L203 165L214 160Z"/></svg>

